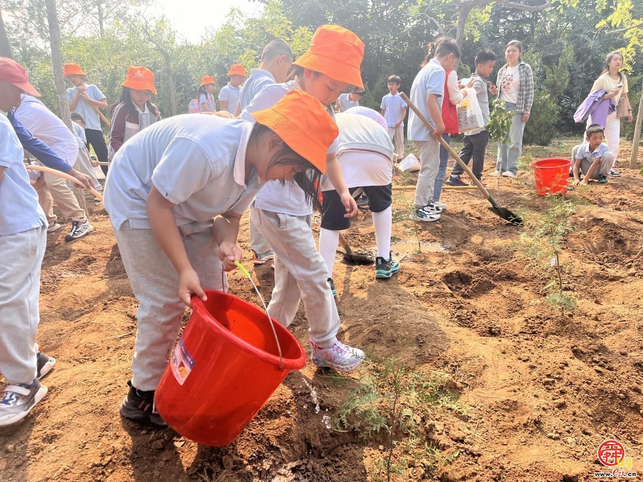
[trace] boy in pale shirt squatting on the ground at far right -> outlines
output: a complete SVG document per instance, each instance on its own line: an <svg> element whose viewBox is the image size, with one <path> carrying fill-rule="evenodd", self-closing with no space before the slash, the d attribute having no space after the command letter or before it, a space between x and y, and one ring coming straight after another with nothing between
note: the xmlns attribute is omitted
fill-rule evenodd
<svg viewBox="0 0 643 482"><path fill-rule="evenodd" d="M614 163L614 154L603 142L604 129L599 124L592 124L587 128L585 142L572 149L572 162L574 163L574 186L586 186L590 179L607 184L611 167ZM581 181L580 173L584 179Z"/></svg>

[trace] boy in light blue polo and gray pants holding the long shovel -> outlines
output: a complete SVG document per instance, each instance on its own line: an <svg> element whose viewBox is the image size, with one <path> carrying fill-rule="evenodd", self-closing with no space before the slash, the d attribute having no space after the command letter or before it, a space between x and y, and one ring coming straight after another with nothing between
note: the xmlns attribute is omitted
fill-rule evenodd
<svg viewBox="0 0 643 482"><path fill-rule="evenodd" d="M431 58L433 52L435 54ZM410 100L435 128L431 134L415 112L411 111L408 118L408 138L415 142L420 151L421 166L415 188L415 210L410 215L415 221L430 222L440 219L442 209L433 203L433 190L440 167L438 139L445 130L442 121L442 98L446 71L453 69L459 58L460 49L453 39L444 37L437 46L429 44L429 54L411 86Z"/></svg>

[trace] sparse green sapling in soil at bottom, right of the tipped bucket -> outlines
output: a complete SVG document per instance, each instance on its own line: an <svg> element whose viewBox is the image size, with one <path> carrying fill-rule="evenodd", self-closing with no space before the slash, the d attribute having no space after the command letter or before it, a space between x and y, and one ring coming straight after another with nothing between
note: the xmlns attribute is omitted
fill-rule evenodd
<svg viewBox="0 0 643 482"><path fill-rule="evenodd" d="M396 474L415 480L453 462L458 453L440 454L424 428L437 410L464 414L457 393L444 388L448 376L406 366L398 358L367 360L359 370L358 388L336 410L334 429L353 430L365 441L386 435L387 453L370 468L370 477L390 480Z"/></svg>

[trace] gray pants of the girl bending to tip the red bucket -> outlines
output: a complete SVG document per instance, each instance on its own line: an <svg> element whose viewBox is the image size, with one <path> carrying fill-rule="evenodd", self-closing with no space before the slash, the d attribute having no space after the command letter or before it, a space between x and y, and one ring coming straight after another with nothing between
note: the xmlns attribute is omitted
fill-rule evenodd
<svg viewBox="0 0 643 482"><path fill-rule="evenodd" d="M203 289L221 291L219 246L212 240L212 222L181 226L185 251ZM139 301L136 344L132 359L132 385L154 390L167 366L185 312L179 299L179 275L156 242L151 229L134 229L129 221L114 226L127 278ZM226 289L227 289L227 283Z"/></svg>

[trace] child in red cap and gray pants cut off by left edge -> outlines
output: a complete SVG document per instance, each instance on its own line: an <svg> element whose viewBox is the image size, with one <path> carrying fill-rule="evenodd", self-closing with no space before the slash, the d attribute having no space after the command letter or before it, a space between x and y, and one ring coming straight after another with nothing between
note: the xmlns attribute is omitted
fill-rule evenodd
<svg viewBox="0 0 643 482"><path fill-rule="evenodd" d="M24 68L0 58L0 110L9 112L21 94L40 94ZM8 385L0 400L0 426L22 420L47 393L39 379L55 359L38 350L38 298L47 220L29 183L24 151L14 128L0 115L0 374Z"/></svg>

